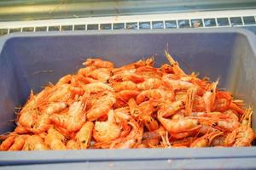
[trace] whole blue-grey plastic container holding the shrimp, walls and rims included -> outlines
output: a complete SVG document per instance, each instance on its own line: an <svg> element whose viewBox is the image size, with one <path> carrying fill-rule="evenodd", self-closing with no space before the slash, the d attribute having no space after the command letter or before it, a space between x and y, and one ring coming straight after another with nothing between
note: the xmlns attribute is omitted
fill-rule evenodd
<svg viewBox="0 0 256 170"><path fill-rule="evenodd" d="M0 133L12 131L14 108L24 105L31 89L73 73L89 57L117 66L154 55L166 63L168 48L185 71L200 72L247 105L256 103L256 39L241 29L162 31L77 31L17 33L0 39ZM255 112L255 111L254 111ZM253 125L256 122L253 117ZM67 150L0 152L3 169L91 168L256 168L256 148Z"/></svg>

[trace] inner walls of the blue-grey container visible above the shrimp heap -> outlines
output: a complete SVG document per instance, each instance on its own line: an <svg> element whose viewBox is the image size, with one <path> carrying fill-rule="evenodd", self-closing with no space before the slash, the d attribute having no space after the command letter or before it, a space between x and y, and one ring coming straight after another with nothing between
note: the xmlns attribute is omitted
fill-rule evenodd
<svg viewBox="0 0 256 170"><path fill-rule="evenodd" d="M239 48L237 48L239 47ZM200 77L210 77L211 81L220 78L218 88L230 88L246 101L255 97L244 92L253 88L253 74L256 62L247 38L240 33L222 32L131 32L128 33L89 33L81 35L44 36L10 38L0 56L2 85L0 96L3 120L0 133L9 131L6 123L15 118L12 109L25 103L30 89L38 93L48 82L55 83L59 78L78 71L84 59L97 57L113 61L117 66L126 65L138 59L154 56L156 65L166 63L164 49L177 59L186 72L199 72ZM233 68L234 59L244 62ZM248 69L249 67L249 69ZM239 68L237 70L237 68ZM248 69L248 70L247 70ZM238 81L230 81L230 72L239 71ZM7 76L9 75L9 76ZM231 78L235 80L237 77ZM250 79L250 80L249 80ZM4 82L4 83L3 83ZM232 86L230 86L232 82ZM237 83L239 82L239 83ZM238 84L238 85L237 85ZM238 87L236 90L232 87ZM254 93L254 92L253 92ZM4 104L9 102L9 107ZM10 116L12 115L12 116Z"/></svg>

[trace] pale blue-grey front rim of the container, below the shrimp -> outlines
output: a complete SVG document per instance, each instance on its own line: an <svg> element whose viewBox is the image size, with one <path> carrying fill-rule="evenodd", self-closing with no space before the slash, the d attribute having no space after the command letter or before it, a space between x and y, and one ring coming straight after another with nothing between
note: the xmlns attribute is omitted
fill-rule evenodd
<svg viewBox="0 0 256 170"><path fill-rule="evenodd" d="M209 154L211 153L211 154ZM256 158L256 147L167 148L133 150L42 150L0 152L0 165L78 161Z"/></svg>

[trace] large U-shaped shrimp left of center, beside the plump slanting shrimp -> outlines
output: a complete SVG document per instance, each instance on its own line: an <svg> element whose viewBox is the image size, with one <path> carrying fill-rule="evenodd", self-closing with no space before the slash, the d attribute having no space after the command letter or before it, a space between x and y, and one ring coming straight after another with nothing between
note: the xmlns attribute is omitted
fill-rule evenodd
<svg viewBox="0 0 256 170"><path fill-rule="evenodd" d="M79 130L85 122L85 108L84 101L75 101L70 105L67 114L53 114L49 118L57 126L64 127L69 132L74 132Z"/></svg>

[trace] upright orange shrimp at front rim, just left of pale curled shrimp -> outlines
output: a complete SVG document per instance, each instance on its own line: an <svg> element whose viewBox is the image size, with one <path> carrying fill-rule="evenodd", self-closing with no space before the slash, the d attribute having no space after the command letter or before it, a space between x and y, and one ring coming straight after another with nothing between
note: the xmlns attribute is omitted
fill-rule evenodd
<svg viewBox="0 0 256 170"><path fill-rule="evenodd" d="M93 122L85 122L83 127L80 128L79 132L75 136L76 141L78 141L80 148L83 150L87 149L90 145L93 127Z"/></svg>

